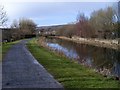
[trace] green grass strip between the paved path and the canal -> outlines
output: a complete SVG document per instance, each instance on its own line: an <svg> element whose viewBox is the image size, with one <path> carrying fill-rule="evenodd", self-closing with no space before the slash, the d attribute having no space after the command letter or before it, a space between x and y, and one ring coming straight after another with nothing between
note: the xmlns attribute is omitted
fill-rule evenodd
<svg viewBox="0 0 120 90"><path fill-rule="evenodd" d="M36 39L27 44L33 56L65 88L120 88L120 81L106 78L72 60L38 46Z"/></svg>

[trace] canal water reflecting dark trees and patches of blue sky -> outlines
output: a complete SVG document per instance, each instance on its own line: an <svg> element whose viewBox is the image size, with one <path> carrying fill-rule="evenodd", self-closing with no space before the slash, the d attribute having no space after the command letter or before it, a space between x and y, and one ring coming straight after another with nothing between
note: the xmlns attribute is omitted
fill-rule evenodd
<svg viewBox="0 0 120 90"><path fill-rule="evenodd" d="M79 64L93 68L104 76L120 77L120 50L77 44L57 38L46 38L45 41L47 46Z"/></svg>

